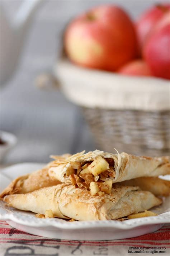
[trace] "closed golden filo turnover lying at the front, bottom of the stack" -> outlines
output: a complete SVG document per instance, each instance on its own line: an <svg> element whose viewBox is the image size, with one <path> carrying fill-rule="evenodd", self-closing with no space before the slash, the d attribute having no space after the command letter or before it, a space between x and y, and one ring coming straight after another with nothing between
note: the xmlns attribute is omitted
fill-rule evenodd
<svg viewBox="0 0 170 256"><path fill-rule="evenodd" d="M86 189L60 184L28 194L8 195L4 202L24 211L45 214L50 209L55 217L85 221L117 220L158 206L162 200L151 192L138 191L138 187L114 185L110 195L92 197Z"/></svg>

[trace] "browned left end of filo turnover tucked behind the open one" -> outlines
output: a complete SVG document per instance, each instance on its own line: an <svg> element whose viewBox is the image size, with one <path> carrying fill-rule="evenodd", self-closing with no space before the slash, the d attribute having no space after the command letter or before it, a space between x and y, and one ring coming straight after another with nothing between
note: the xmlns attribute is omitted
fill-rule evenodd
<svg viewBox="0 0 170 256"><path fill-rule="evenodd" d="M56 156L58 160L64 160L70 156L70 154L64 154L61 156ZM43 187L55 186L61 182L52 179L48 174L49 165L44 166L44 168L39 169L35 172L29 173L27 175L15 178L0 194L0 199L2 200L5 195L10 194L25 194L32 192Z"/></svg>

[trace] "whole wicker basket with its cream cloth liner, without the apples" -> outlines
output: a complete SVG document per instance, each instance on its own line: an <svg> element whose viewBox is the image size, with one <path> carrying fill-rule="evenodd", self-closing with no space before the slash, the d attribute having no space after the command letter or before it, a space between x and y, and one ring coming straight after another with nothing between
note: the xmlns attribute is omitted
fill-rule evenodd
<svg viewBox="0 0 170 256"><path fill-rule="evenodd" d="M100 150L136 155L170 154L170 84L76 67L62 60L55 76L80 105Z"/></svg>

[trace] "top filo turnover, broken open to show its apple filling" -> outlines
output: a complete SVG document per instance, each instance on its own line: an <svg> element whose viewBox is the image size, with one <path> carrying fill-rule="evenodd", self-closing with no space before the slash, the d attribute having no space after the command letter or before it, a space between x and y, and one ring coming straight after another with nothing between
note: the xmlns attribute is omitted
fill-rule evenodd
<svg viewBox="0 0 170 256"><path fill-rule="evenodd" d="M87 187L87 173L91 173L95 182L112 180L113 183L170 174L170 156L134 156L124 152L112 154L99 150L85 154L82 151L64 160L56 159L49 167L48 173L53 179L80 187L83 183ZM90 176L88 179L90 180Z"/></svg>

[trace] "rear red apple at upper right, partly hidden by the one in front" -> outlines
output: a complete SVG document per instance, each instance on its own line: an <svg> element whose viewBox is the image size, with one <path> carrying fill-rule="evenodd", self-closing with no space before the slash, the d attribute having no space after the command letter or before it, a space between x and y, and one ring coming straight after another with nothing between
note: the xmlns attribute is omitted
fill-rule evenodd
<svg viewBox="0 0 170 256"><path fill-rule="evenodd" d="M148 35L157 22L170 10L170 4L159 4L147 10L136 23L139 48L142 49Z"/></svg>

